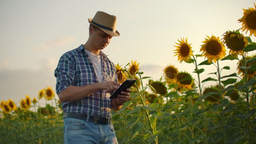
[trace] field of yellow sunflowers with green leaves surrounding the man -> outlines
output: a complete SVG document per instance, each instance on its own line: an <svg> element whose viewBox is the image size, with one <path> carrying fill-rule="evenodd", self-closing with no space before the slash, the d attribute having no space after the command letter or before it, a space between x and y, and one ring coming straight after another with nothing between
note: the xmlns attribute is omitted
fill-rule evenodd
<svg viewBox="0 0 256 144"><path fill-rule="evenodd" d="M256 143L256 5L244 9L238 21L242 28L206 36L199 54L193 53L188 38L172 47L180 64L194 67L197 77L170 64L160 79L143 76L139 63L132 60L116 65L118 82L137 79L131 98L118 111L112 111L116 137L120 144L137 143ZM241 32L249 31L249 36ZM222 61L237 67L220 67ZM204 67L212 66L212 73ZM230 71L222 75L223 71ZM202 75L209 76L200 79ZM214 82L215 85L207 85ZM39 101L46 105L40 106ZM54 91L47 87L38 98L1 101L0 143L63 143L63 112Z"/></svg>

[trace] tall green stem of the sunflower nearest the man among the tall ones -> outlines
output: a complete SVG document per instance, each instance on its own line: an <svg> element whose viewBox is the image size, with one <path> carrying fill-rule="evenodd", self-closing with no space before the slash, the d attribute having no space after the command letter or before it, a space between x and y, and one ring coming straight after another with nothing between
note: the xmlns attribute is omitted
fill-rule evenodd
<svg viewBox="0 0 256 144"><path fill-rule="evenodd" d="M196 70L198 70L198 66L197 66L197 63L196 63L196 58L195 56L193 55L193 58L195 60L195 66L196 66ZM200 75L199 73L197 73L197 77L198 77L198 87L199 87L199 91L200 91L200 98L202 97L202 87L201 87L201 81L200 81ZM202 104L202 110L204 111L204 102L203 100L200 100L201 101L201 104ZM208 143L208 136L207 136L207 127L206 127L206 112L203 112L203 115L204 115L204 129L205 129L205 143Z"/></svg>

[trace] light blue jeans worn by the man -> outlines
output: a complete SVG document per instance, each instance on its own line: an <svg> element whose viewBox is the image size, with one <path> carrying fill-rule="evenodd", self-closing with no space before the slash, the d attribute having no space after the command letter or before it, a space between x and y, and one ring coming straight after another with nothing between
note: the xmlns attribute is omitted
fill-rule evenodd
<svg viewBox="0 0 256 144"><path fill-rule="evenodd" d="M64 118L63 133L65 144L118 144L113 124Z"/></svg>

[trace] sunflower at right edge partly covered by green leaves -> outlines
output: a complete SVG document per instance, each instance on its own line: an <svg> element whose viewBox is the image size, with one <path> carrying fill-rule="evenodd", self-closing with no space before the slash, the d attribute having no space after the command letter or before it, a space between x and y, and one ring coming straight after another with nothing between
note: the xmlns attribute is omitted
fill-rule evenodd
<svg viewBox="0 0 256 144"><path fill-rule="evenodd" d="M248 60L248 59L251 59L253 57L256 57L256 55L253 55L253 56L246 56L245 57L245 60ZM246 63L246 67L250 67L252 64L255 64L255 62L249 62L249 63ZM242 68L239 68L240 66L244 66L244 61L243 60L239 60L237 62L237 70L238 70L238 74L241 75L241 76L244 76L244 70L245 69L242 69ZM248 76L255 76L256 75L256 71L251 71L250 69L247 70L247 75Z"/></svg>

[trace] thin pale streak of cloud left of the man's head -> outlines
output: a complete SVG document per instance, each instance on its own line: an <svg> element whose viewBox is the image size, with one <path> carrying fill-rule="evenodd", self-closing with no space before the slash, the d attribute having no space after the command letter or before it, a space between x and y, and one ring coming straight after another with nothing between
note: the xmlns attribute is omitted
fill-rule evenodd
<svg viewBox="0 0 256 144"><path fill-rule="evenodd" d="M76 39L74 37L62 37L58 39L53 39L49 42L41 44L39 47L35 48L35 51L45 51L51 47L61 47L74 42Z"/></svg>

